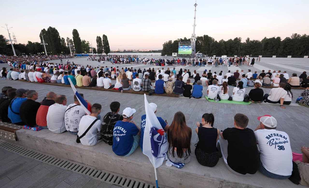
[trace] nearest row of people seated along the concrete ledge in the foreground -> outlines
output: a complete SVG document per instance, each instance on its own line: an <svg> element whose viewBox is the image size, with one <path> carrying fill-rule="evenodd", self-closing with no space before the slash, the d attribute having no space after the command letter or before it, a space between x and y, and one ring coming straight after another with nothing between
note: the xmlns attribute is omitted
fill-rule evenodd
<svg viewBox="0 0 309 188"><path fill-rule="evenodd" d="M41 102L36 102L37 91L6 86L2 88L0 97L2 122L40 127L57 134L67 131L77 135L76 141L86 146L96 145L103 140L112 146L112 151L118 156L129 156L138 146L143 149L146 115L137 117L141 119L138 126L133 121L136 110L126 107L121 115L120 102L112 102L107 112L100 104L91 104L84 99L91 112L87 115L76 95L73 96L74 103L69 105L67 96L54 92L48 92ZM159 109L155 103L149 105L154 113ZM107 113L101 118L103 110ZM195 133L186 124L185 115L181 111L176 112L171 124L161 117L157 118L167 134L168 160L189 163L192 156L190 143ZM247 127L248 117L236 114L234 127L220 131L214 127L213 114L202 115L201 123L197 122L195 129L199 138L194 149L197 161L203 166L214 167L222 157L227 168L237 175L253 175L259 170L269 178L290 178L296 167L293 167L289 135L276 130L277 120L271 115L260 116L258 120L260 124L252 131ZM301 151L303 162L296 161L295 164L302 177L300 183L309 186L308 179L303 178L309 170L309 148L302 147ZM242 157L239 157L239 153Z"/></svg>

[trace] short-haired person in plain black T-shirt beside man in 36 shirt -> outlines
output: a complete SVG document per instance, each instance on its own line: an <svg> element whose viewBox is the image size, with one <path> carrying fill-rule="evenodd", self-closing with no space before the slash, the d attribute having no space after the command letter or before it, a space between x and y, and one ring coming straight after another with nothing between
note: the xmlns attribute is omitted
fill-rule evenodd
<svg viewBox="0 0 309 188"><path fill-rule="evenodd" d="M246 128L246 115L234 116L234 127L220 132L220 148L229 170L237 175L255 174L259 166L259 155L254 132Z"/></svg>

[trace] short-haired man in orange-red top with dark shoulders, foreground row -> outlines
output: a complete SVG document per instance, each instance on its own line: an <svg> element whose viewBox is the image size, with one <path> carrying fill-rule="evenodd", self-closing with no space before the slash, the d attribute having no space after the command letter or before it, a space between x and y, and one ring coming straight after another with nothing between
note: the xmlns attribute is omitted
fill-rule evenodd
<svg viewBox="0 0 309 188"><path fill-rule="evenodd" d="M39 125L41 128L47 129L47 121L46 116L48 112L49 106L55 104L55 99L57 94L54 92L48 92L46 97L41 102L41 106L36 113L36 124Z"/></svg>

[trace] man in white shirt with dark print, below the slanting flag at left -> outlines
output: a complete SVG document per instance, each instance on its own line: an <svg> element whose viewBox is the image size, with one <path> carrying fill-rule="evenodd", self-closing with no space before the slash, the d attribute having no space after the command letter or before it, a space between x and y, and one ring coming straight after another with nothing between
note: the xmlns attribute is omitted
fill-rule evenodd
<svg viewBox="0 0 309 188"><path fill-rule="evenodd" d="M80 96L84 98L84 95L82 93L80 93ZM74 95L74 103L68 105L64 115L66 130L73 135L77 135L80 119L84 115L87 114L85 113L83 107L78 102L76 95Z"/></svg>

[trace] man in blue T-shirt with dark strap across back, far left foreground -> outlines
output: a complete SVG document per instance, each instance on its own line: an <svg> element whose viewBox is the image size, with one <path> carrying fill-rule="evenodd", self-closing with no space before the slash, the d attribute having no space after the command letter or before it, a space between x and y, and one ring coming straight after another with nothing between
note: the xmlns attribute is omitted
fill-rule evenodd
<svg viewBox="0 0 309 188"><path fill-rule="evenodd" d="M20 106L23 104L23 102L25 102L27 100L27 95L26 93L29 90L25 90L25 89L18 89L16 90L16 98L14 98L11 101L11 104L9 106L8 109L8 117L11 119L11 122L17 125L25 125L25 123L23 123L23 121L20 118L19 115L19 109ZM31 110L31 109L29 109Z"/></svg>

